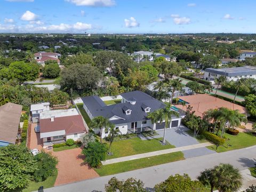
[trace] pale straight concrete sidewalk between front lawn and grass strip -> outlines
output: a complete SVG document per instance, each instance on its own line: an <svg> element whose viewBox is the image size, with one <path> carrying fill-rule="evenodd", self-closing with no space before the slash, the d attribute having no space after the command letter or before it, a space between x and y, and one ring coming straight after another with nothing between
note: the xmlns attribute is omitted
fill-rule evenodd
<svg viewBox="0 0 256 192"><path fill-rule="evenodd" d="M149 152L149 153L143 153L143 154L137 154L137 155L131 155L131 156L126 156L126 157L119 157L119 158L109 159L109 160L103 161L101 163L102 163L102 165L108 165L108 164L113 164L113 163L130 161L130 160L134 160L134 159L140 159L140 158L145 158L145 157L152 157L152 156L157 156L157 155L174 153L174 152L177 152L177 151L197 149L197 148L207 147L207 146L212 146L212 145L213 144L210 143L210 142L204 142L204 143L199 143L199 144L190 145L190 146L177 147L177 148L165 149L165 150L158 150L158 151L153 151L153 152Z"/></svg>

